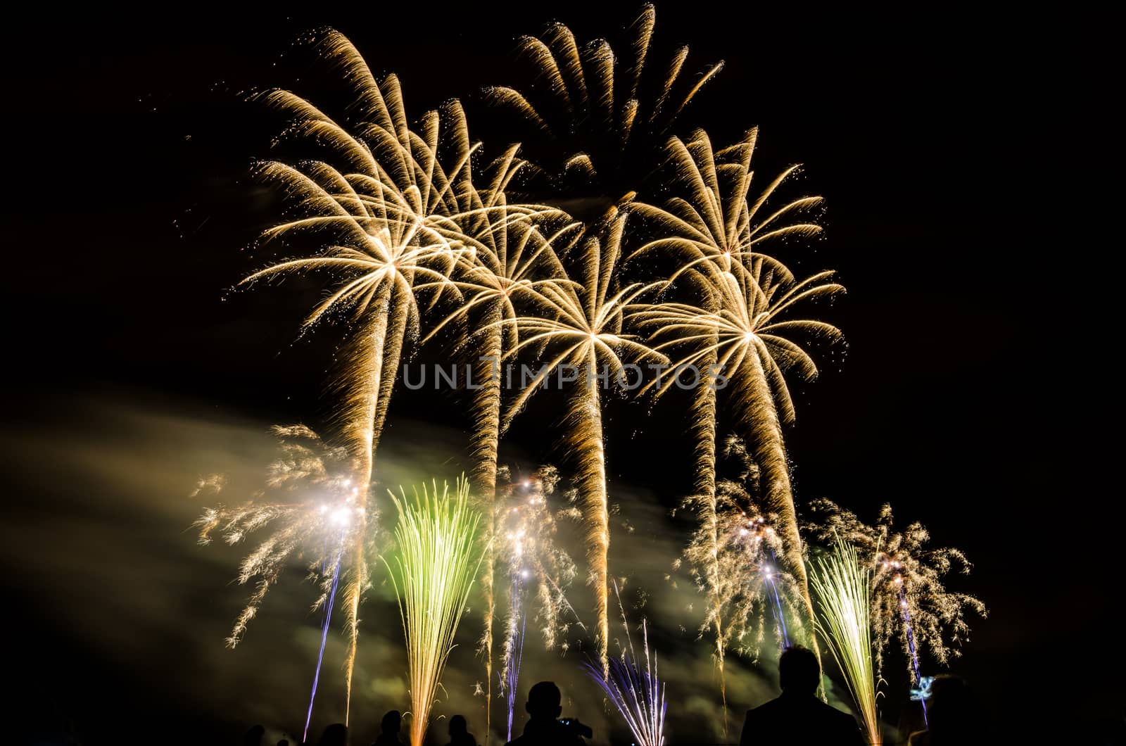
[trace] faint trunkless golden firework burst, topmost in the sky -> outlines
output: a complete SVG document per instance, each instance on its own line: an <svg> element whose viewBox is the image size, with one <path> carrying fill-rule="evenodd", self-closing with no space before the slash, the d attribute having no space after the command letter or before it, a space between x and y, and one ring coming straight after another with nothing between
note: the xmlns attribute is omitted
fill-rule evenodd
<svg viewBox="0 0 1126 746"><path fill-rule="evenodd" d="M696 94L723 66L714 64L694 80L682 76L688 47L680 47L658 79L650 50L655 24L653 6L645 6L631 27L628 51L618 57L605 39L580 50L566 26L553 24L542 37L525 36L520 57L538 80L526 97L507 87L488 90L489 99L533 126L533 141L563 187L562 194L595 195L601 207L626 198L660 161L660 150L673 122ZM566 198L566 197L565 197Z"/></svg>

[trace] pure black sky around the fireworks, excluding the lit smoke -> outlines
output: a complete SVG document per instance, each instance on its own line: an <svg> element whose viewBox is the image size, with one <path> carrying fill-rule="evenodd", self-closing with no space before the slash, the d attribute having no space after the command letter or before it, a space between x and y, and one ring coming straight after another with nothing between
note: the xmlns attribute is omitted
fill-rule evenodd
<svg viewBox="0 0 1126 746"><path fill-rule="evenodd" d="M519 34L558 19L582 39L613 39L636 8L413 10L44 14L9 28L0 230L10 437L60 401L107 392L261 421L323 416L319 343L291 344L315 288L224 293L257 266L242 247L272 214L245 170L275 131L236 92L282 86L315 99L323 72L279 57L300 32L342 30L375 71L400 74L418 115L449 97L473 110L482 86L511 80ZM717 142L758 125L762 172L799 161L801 188L826 197L826 238L787 259L840 272L848 295L826 313L849 344L843 357L823 357L817 381L795 387L798 498L830 497L869 518L891 501L901 521L967 552L975 570L964 587L991 616L956 670L998 722L1029 731L1051 718L1093 732L1121 722L1126 701L1110 631L1120 489L1097 476L1110 447L1088 419L1102 406L1087 403L1110 376L1076 368L1098 359L1081 319L1108 249L1055 228L1085 217L1074 205L1090 188L1078 168L1093 131L1073 125L1079 81L1098 61L1080 51L1082 27L945 6L660 3L656 20L663 55L687 43L691 71L726 61L685 123ZM392 419L450 406L408 394ZM647 426L638 414L613 414L614 478L671 507L685 477L654 454L682 451L669 435L682 425L676 411L658 408ZM543 423L522 427L520 442L534 441ZM530 455L546 459L542 439ZM9 499L18 515L51 496ZM46 611L50 585L19 577L14 568L8 578L26 604L8 614L14 629L30 619L65 634ZM1098 660L1076 663L1088 646ZM65 638L61 649L144 691L155 712L212 717L179 711L159 678L132 680ZM52 691L66 673L42 663L17 665Z"/></svg>

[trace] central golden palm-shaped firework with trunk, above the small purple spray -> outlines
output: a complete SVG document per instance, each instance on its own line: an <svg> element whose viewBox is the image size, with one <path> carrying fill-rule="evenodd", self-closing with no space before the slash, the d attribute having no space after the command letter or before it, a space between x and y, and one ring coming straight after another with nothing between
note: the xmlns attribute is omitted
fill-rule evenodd
<svg viewBox="0 0 1126 746"><path fill-rule="evenodd" d="M521 316L501 322L515 326L520 334L520 341L509 355L537 346L549 358L517 397L509 410L509 418L524 407L552 372L557 371L561 383L572 383L564 439L575 461L574 483L587 526L588 584L595 594L597 641L604 668L609 665L607 554L610 525L601 392L598 382L609 383L611 379L619 383L626 381L623 355L627 358L668 362L663 355L654 353L622 330L624 309L652 287L637 283L614 288L624 227L625 215L616 214L604 225L605 240L597 236L586 236L577 242L578 256L573 259L581 273L581 282L560 279L537 288L534 307L537 316Z"/></svg>

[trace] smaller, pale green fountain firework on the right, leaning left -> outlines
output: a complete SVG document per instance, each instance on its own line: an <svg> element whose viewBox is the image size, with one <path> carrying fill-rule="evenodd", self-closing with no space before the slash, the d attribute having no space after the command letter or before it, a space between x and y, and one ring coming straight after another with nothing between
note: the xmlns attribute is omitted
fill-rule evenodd
<svg viewBox="0 0 1126 746"><path fill-rule="evenodd" d="M878 746L883 741L872 659L872 571L857 559L856 549L843 541L838 541L832 553L819 559L813 569L810 580L821 611L817 629L844 675L868 731L868 743Z"/></svg>

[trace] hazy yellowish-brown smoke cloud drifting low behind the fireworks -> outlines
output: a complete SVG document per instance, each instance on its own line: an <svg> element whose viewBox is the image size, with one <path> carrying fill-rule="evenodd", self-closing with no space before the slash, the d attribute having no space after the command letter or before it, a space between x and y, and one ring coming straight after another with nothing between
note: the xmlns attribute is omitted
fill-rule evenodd
<svg viewBox="0 0 1126 746"><path fill-rule="evenodd" d="M166 723L164 743L200 743L206 738L200 734L236 737L256 722L277 737L284 731L300 736L320 645L321 615L311 611L316 589L295 562L267 595L244 640L226 649L224 639L250 592L234 581L235 568L253 536L233 548L222 542L202 547L190 529L215 500L206 491L189 497L202 478L225 474L224 499L232 501L261 483L276 455L269 423L119 400L62 402L59 411L2 436L16 496L0 552L16 594L29 601L29 619L39 628L32 632L36 645L47 648L25 664L29 678L51 693L46 717L80 743L109 740L131 718L149 722L141 710L196 713L194 721ZM458 432L396 421L377 459L383 486L453 480L464 468L464 439ZM555 499L563 507L558 495ZM683 526L670 519L669 505L628 485L611 485L611 574L638 649L640 624L647 621L668 685L672 743L738 740L743 711L777 694L770 646L763 646L758 666L729 656L724 736L712 646L699 637L701 597L685 572L670 577L687 540ZM382 530L391 527L390 509L390 503L381 506ZM562 522L561 534L558 541L581 568L578 527ZM372 569L374 587L360 611L352 743L373 738L386 710L409 707L397 606L377 558ZM569 593L580 615L590 606L582 576ZM476 654L476 589L470 603L434 708L439 718L431 726L435 738L445 734L445 718L463 713L484 740L484 698L475 693L485 675ZM544 649L529 616L518 701L533 683L555 681L564 693L564 714L590 723L595 743L607 743L624 730L581 667L595 648L580 624L593 620L572 621L579 623L571 625L563 654ZM614 621L611 651L626 645L620 616ZM343 719L345 652L346 637L333 620L314 731ZM503 736L499 702L493 712L493 729ZM524 721L518 705L516 734Z"/></svg>

